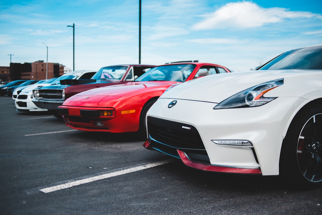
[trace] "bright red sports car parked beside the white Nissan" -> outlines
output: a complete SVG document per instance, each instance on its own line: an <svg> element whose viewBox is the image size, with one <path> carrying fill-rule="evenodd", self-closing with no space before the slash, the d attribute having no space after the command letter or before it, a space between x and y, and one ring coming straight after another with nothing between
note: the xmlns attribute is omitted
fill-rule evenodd
<svg viewBox="0 0 322 215"><path fill-rule="evenodd" d="M71 96L57 108L67 126L94 132L137 132L146 136L145 116L171 85L230 70L216 64L179 62L156 66L134 82Z"/></svg>

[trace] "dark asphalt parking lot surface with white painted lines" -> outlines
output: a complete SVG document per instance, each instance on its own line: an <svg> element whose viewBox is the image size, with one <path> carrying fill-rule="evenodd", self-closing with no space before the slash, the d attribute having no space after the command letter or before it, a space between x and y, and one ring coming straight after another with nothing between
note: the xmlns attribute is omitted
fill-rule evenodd
<svg viewBox="0 0 322 215"><path fill-rule="evenodd" d="M194 170L133 133L72 130L0 103L0 214L322 214L322 188Z"/></svg>

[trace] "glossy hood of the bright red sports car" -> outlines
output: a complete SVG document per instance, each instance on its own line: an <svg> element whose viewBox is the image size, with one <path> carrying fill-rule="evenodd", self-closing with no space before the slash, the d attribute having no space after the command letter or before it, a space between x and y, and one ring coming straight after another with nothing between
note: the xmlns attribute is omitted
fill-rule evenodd
<svg viewBox="0 0 322 215"><path fill-rule="evenodd" d="M63 105L81 106L81 107L98 107L106 106L109 102L116 100L128 94L142 93L141 91L149 90L162 86L166 90L172 84L177 82L155 81L155 82L130 82L113 86L95 88L71 96Z"/></svg>

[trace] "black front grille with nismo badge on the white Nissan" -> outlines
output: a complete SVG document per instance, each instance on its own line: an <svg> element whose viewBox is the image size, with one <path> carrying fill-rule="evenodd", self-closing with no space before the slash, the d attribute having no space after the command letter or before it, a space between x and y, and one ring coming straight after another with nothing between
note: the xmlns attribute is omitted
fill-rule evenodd
<svg viewBox="0 0 322 215"><path fill-rule="evenodd" d="M205 150L199 132L192 125L148 116L147 128L153 139L171 147Z"/></svg>

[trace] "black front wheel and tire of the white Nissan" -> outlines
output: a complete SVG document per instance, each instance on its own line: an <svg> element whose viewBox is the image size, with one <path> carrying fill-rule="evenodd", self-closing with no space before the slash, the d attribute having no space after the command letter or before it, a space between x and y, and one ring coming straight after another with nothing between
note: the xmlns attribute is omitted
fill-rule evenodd
<svg viewBox="0 0 322 215"><path fill-rule="evenodd" d="M322 185L322 104L301 109L282 144L280 175L293 185Z"/></svg>

